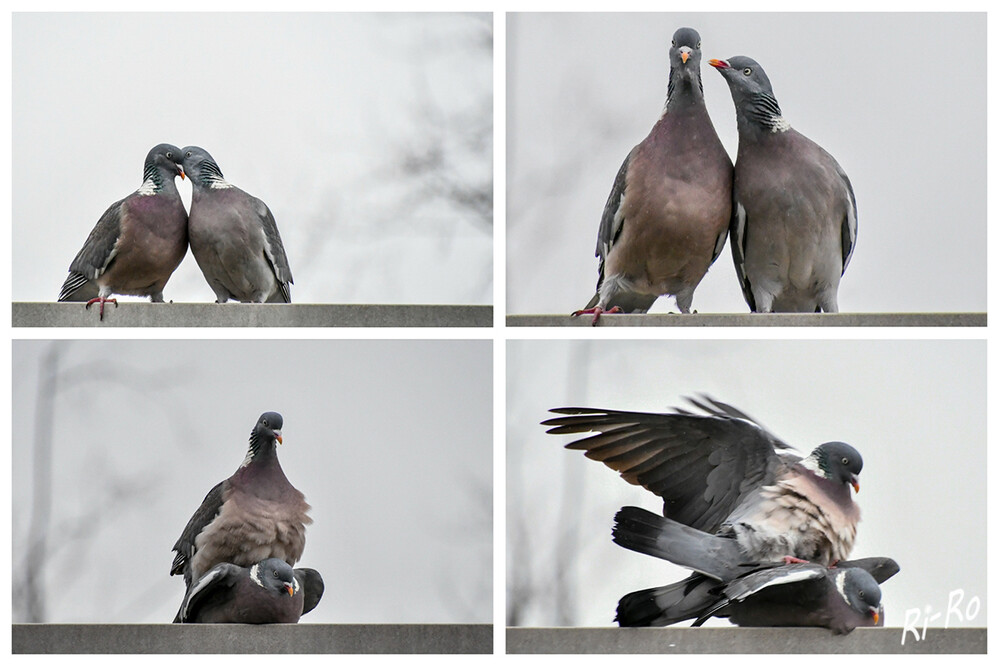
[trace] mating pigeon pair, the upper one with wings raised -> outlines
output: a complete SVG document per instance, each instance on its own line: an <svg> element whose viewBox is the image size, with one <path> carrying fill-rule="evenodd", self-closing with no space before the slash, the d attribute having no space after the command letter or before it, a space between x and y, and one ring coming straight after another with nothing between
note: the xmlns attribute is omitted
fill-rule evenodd
<svg viewBox="0 0 999 666"><path fill-rule="evenodd" d="M837 634L881 626L879 583L890 558L846 560L857 534L860 453L827 442L802 458L740 410L711 398L699 411L645 414L590 408L543 425L596 432L566 448L663 500L663 516L624 507L618 545L690 569L686 579L625 595L622 627L727 617L741 626L817 626Z"/></svg>

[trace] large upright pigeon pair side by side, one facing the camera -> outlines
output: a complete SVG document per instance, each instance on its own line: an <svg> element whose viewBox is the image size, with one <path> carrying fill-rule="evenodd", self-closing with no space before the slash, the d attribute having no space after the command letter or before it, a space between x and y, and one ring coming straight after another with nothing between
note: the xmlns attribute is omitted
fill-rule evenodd
<svg viewBox="0 0 999 666"><path fill-rule="evenodd" d="M709 60L735 102L732 161L704 104L701 37L680 28L669 51L666 107L614 179L597 234L597 293L574 315L646 312L694 290L731 231L752 312L838 312L857 240L857 202L832 155L781 114L766 72L744 56Z"/></svg>

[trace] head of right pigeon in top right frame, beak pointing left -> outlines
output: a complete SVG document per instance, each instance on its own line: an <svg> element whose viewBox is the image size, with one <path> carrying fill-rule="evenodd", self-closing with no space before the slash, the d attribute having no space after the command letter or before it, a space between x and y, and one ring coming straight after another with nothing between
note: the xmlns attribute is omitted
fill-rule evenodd
<svg viewBox="0 0 999 666"><path fill-rule="evenodd" d="M746 56L734 56L728 60L712 58L708 64L717 69L728 83L740 136L749 128L771 133L790 129L791 126L781 115L770 79L758 62Z"/></svg>

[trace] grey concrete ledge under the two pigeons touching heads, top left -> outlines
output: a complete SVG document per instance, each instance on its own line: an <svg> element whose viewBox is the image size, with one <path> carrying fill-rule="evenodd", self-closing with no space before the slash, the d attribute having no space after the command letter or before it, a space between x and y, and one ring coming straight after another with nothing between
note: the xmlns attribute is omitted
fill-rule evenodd
<svg viewBox="0 0 999 666"><path fill-rule="evenodd" d="M83 303L14 303L14 326L86 327L485 327L491 305L321 305L304 303L143 303L104 308Z"/></svg>

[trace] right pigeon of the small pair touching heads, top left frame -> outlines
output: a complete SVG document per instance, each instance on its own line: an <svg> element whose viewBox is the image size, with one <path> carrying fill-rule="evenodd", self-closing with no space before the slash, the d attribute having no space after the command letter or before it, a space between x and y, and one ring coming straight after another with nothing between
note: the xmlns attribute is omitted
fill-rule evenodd
<svg viewBox="0 0 999 666"><path fill-rule="evenodd" d="M194 186L191 252L216 302L291 303L291 268L267 204L223 178L204 148L184 148L183 165Z"/></svg>

